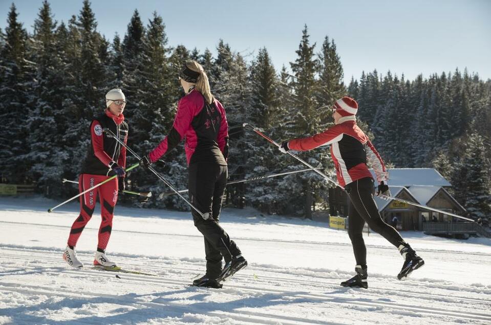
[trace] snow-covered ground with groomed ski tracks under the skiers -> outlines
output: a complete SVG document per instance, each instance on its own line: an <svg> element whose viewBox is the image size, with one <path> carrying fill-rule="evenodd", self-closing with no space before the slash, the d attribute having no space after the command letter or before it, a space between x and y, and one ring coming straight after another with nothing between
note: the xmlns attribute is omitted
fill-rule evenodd
<svg viewBox="0 0 491 325"><path fill-rule="evenodd" d="M426 265L405 281L397 249L365 236L369 289L353 275L348 235L326 223L225 209L222 224L249 267L223 289L187 286L205 268L189 213L116 207L108 256L155 275L93 270L100 216L77 245L83 269L61 259L78 204L0 198L0 324L491 324L491 240L402 236ZM115 275L120 278L117 278Z"/></svg>

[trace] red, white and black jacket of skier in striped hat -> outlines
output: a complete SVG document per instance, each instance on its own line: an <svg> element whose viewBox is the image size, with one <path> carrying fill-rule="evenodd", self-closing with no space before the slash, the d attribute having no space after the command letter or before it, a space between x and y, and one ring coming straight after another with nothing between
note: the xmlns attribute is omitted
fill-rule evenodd
<svg viewBox="0 0 491 325"><path fill-rule="evenodd" d="M343 187L355 180L372 177L367 160L377 175L377 181L387 183L389 174L386 166L368 136L356 124L355 117L343 117L339 122L324 132L292 140L288 142L288 147L291 150L307 151L331 145L337 181Z"/></svg>

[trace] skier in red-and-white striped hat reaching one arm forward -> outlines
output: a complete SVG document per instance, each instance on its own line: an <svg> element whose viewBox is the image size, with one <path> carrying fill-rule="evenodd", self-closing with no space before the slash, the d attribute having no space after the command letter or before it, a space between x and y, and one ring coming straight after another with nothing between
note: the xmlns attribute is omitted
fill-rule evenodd
<svg viewBox="0 0 491 325"><path fill-rule="evenodd" d="M331 145L331 157L336 168L337 180L345 188L350 198L348 234L356 260L356 275L342 282L341 286L368 288L367 249L362 237L365 222L372 230L399 249L404 259L402 269L397 275L399 280L423 266L424 261L401 238L394 227L382 220L378 212L373 200L374 180L368 170L367 160L370 161L379 183L377 196L390 196L387 185L389 175L377 150L356 124L357 111L358 103L352 98L343 97L334 103L332 116L335 125L333 127L310 137L284 142L279 149L286 153L289 150L308 151Z"/></svg>

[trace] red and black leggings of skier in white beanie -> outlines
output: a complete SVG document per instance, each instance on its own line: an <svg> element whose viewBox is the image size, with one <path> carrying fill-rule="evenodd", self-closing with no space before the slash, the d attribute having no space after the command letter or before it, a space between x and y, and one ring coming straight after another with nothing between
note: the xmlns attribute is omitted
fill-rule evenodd
<svg viewBox="0 0 491 325"><path fill-rule="evenodd" d="M81 174L78 178L79 192L86 191L108 178L108 176L104 175ZM109 238L111 237L111 228L113 226L114 206L118 201L117 177L80 196L80 215L73 222L72 229L70 230L70 236L68 237L69 246L77 245L78 238L82 234L83 228L92 218L97 196L99 196L100 200L102 217L99 227L99 242L97 248L105 250L106 246L108 246Z"/></svg>

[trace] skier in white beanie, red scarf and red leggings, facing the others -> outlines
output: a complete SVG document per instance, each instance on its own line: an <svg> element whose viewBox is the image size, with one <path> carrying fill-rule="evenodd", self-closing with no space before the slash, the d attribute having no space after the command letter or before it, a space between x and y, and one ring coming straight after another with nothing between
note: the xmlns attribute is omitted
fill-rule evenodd
<svg viewBox="0 0 491 325"><path fill-rule="evenodd" d="M75 246L83 228L92 218L97 196L100 200L102 220L99 227L99 240L94 265L116 266L116 263L111 262L105 255L105 248L111 237L114 207L118 200L118 193L124 191L126 148L112 137L107 136L102 130L109 128L126 144L128 124L124 122L123 110L126 106L126 98L121 89L109 90L105 99L106 109L104 113L92 120L90 125L91 145L83 163L82 173L78 178L78 189L81 193L114 175L118 177L80 196L80 215L72 224L67 248L63 253L63 260L76 268L82 267L83 264L77 258Z"/></svg>

